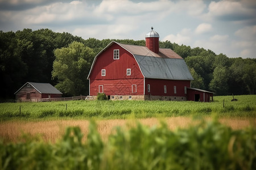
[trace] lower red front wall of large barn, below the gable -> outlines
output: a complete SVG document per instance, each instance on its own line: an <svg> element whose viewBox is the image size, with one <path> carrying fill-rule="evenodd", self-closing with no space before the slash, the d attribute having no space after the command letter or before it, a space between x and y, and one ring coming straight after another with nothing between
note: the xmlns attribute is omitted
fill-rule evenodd
<svg viewBox="0 0 256 170"><path fill-rule="evenodd" d="M136 92L132 92L132 85L136 85ZM143 95L143 79L121 80L91 80L90 95L97 96L103 86L103 92L107 95Z"/></svg>

